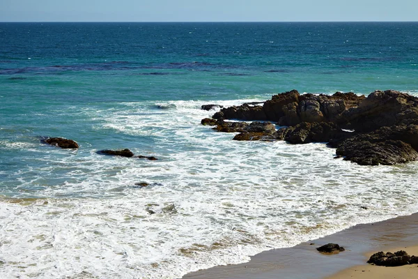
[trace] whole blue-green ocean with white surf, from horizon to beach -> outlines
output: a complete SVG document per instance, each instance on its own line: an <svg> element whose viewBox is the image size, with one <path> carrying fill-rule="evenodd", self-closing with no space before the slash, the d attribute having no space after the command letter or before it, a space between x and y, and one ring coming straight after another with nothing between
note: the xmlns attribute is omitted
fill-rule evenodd
<svg viewBox="0 0 418 279"><path fill-rule="evenodd" d="M418 212L418 163L359 166L323 143L235 142L200 124L216 112L201 105L291 89L418 96L417 33L417 22L0 23L0 278L181 278ZM159 160L96 153L125 148Z"/></svg>

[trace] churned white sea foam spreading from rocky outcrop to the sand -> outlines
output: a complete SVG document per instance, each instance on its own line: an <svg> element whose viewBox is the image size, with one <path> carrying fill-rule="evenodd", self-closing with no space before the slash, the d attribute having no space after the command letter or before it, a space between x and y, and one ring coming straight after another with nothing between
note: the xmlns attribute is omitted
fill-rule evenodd
<svg viewBox="0 0 418 279"><path fill-rule="evenodd" d="M0 199L0 278L179 278L418 211L417 163L363 167L333 159L325 144L235 142L200 125L214 113L203 104L250 101L86 112L98 129L152 137L161 160L91 149L46 153L44 164L20 169L13 177L31 179L19 187L39 186L32 194L45 199Z"/></svg>

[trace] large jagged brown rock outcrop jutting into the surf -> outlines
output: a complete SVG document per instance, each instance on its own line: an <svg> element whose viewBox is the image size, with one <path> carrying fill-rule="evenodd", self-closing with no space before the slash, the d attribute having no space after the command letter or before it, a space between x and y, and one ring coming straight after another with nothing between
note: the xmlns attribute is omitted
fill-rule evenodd
<svg viewBox="0 0 418 279"><path fill-rule="evenodd" d="M201 123L239 133L233 140L327 142L336 148L336 158L359 165L418 159L418 98L406 93L374 91L366 97L352 92L301 95L292 90L259 104L224 107ZM275 130L272 123L285 127Z"/></svg>

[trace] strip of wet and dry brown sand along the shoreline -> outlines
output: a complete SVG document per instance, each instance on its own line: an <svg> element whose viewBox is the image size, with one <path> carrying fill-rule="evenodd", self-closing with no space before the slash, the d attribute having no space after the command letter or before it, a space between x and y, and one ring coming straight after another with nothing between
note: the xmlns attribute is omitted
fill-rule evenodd
<svg viewBox="0 0 418 279"><path fill-rule="evenodd" d="M324 255L316 250L327 243L338 243L346 251L336 255ZM379 223L357 225L292 248L261 252L245 264L215 266L189 273L183 278L418 278L417 264L399 267L366 264L373 252L395 252L396 249L406 250L409 255L418 255L418 213Z"/></svg>

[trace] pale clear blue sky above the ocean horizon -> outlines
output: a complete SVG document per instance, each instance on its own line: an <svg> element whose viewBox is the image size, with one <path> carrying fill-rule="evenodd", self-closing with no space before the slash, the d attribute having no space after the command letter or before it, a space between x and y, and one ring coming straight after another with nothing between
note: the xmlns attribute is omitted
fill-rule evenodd
<svg viewBox="0 0 418 279"><path fill-rule="evenodd" d="M418 21L418 0L0 0L10 21Z"/></svg>

